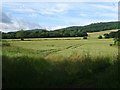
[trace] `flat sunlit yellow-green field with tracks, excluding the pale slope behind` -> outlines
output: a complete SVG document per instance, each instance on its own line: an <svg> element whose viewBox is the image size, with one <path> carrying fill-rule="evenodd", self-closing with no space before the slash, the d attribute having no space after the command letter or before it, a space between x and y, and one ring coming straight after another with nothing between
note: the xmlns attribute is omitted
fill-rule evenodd
<svg viewBox="0 0 120 90"><path fill-rule="evenodd" d="M90 53L91 55L116 55L117 48L110 47L109 44L113 43L112 39L103 40L34 40L31 41L9 41L11 45L39 51L40 54L59 54L69 56L73 52Z"/></svg>

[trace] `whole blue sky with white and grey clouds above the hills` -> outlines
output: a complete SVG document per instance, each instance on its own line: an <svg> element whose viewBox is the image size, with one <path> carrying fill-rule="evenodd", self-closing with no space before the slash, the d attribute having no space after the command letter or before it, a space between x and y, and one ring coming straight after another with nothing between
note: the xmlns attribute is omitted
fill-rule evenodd
<svg viewBox="0 0 120 90"><path fill-rule="evenodd" d="M118 2L3 2L0 30L55 30L118 20Z"/></svg>

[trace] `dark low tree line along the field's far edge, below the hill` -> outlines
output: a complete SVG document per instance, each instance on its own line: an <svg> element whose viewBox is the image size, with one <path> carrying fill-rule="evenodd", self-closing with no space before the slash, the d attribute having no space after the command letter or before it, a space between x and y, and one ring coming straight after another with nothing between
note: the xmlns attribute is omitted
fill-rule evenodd
<svg viewBox="0 0 120 90"><path fill-rule="evenodd" d="M56 37L83 37L87 36L87 32L78 31L47 31L47 30L32 30L17 32L2 32L3 39L17 39L17 38L56 38Z"/></svg>

